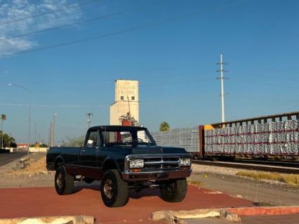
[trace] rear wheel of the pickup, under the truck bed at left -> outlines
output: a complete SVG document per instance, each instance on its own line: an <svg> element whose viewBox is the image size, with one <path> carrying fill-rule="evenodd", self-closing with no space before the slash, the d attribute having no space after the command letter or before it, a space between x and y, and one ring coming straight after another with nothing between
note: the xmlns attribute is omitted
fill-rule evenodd
<svg viewBox="0 0 299 224"><path fill-rule="evenodd" d="M55 190L58 195L69 195L74 188L74 176L69 175L65 166L59 166L55 173Z"/></svg>

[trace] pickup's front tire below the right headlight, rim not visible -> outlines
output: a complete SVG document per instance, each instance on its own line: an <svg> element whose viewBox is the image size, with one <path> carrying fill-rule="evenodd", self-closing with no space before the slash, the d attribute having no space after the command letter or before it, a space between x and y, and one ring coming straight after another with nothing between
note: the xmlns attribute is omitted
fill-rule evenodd
<svg viewBox="0 0 299 224"><path fill-rule="evenodd" d="M187 180L171 180L171 187L160 188L160 192L161 199L166 202L182 202L187 194Z"/></svg>

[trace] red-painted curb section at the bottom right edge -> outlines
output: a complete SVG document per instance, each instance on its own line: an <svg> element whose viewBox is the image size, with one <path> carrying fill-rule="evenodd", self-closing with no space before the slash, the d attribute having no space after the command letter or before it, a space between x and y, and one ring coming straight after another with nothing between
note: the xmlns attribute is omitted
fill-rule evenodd
<svg viewBox="0 0 299 224"><path fill-rule="evenodd" d="M227 209L227 211L238 214L239 216L287 215L299 213L299 206L252 207Z"/></svg>

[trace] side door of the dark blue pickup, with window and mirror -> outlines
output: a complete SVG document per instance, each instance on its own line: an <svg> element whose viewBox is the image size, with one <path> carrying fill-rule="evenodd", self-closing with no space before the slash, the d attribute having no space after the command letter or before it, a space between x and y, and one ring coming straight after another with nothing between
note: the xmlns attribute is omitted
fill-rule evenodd
<svg viewBox="0 0 299 224"><path fill-rule="evenodd" d="M98 169L98 155L100 154L100 138L98 129L90 129L86 136L86 142L79 156L80 174L88 178L100 178Z"/></svg>

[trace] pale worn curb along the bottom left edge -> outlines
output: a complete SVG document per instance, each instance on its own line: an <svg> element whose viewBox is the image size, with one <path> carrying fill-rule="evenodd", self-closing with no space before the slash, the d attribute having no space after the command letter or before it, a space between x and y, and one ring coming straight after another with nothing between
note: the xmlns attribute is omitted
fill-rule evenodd
<svg viewBox="0 0 299 224"><path fill-rule="evenodd" d="M93 224L93 216L40 216L33 218L1 218L0 224Z"/></svg>

